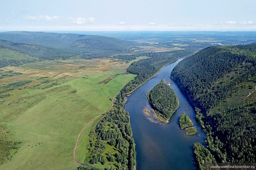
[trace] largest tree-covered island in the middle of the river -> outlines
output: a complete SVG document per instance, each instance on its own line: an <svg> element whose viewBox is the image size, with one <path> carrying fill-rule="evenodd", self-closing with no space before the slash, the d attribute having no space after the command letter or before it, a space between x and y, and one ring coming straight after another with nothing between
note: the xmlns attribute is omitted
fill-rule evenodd
<svg viewBox="0 0 256 170"><path fill-rule="evenodd" d="M164 81L160 81L147 93L147 100L152 107L154 117L168 123L172 114L179 107L179 100L174 91Z"/></svg>

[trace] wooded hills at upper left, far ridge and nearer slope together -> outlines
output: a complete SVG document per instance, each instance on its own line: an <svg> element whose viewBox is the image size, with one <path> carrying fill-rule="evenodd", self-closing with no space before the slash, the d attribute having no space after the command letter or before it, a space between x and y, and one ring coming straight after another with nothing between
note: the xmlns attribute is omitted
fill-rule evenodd
<svg viewBox="0 0 256 170"><path fill-rule="evenodd" d="M0 47L47 60L67 59L74 56L88 59L104 58L113 53L128 52L137 45L133 41L99 35L26 31L0 33L0 39L15 42L8 45L0 43Z"/></svg>

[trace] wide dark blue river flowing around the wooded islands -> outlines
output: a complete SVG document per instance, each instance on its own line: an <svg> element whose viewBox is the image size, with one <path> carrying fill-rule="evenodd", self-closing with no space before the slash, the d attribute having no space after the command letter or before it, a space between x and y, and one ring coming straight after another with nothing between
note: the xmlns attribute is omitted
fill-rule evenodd
<svg viewBox="0 0 256 170"><path fill-rule="evenodd" d="M205 133L195 119L195 110L187 97L179 90L177 84L170 79L172 69L181 61L180 58L152 77L145 84L127 96L125 110L129 112L133 138L137 152L137 170L150 169L197 169L193 144L203 145ZM173 113L169 123L162 123L152 116L147 116L143 109L151 107L146 95L159 81L165 79L171 82L171 88L179 99L179 108ZM179 117L185 112L197 129L197 134L187 136L185 129L179 128ZM152 119L154 122L152 122Z"/></svg>

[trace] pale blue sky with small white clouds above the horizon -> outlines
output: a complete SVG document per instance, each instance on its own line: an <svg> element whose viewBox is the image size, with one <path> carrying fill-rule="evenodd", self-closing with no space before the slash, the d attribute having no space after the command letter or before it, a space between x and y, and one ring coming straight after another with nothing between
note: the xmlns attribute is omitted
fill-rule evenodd
<svg viewBox="0 0 256 170"><path fill-rule="evenodd" d="M0 30L252 30L256 0L0 0Z"/></svg>

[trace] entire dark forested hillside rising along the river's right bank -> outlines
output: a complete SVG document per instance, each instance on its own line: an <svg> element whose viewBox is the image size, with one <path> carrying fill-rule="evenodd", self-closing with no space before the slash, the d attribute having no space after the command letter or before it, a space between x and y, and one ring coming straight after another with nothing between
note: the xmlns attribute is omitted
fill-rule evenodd
<svg viewBox="0 0 256 170"><path fill-rule="evenodd" d="M255 162L255 56L255 43L208 47L184 59L171 73L199 108L197 119L217 162Z"/></svg>

